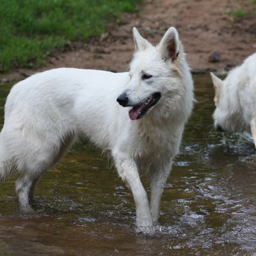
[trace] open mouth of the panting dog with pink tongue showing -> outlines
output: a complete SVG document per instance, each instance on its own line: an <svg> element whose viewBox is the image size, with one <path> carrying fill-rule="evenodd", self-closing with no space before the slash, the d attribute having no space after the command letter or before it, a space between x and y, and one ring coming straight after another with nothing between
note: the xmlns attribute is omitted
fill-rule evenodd
<svg viewBox="0 0 256 256"><path fill-rule="evenodd" d="M142 104L134 106L131 110L129 110L129 117L131 120L140 119L143 115L145 115L145 113L147 113L148 109L157 104L160 98L161 93L157 92L151 95Z"/></svg>

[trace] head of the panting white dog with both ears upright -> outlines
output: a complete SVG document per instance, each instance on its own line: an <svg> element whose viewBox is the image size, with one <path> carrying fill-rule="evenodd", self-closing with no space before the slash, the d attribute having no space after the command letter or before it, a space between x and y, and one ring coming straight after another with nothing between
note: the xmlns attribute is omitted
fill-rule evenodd
<svg viewBox="0 0 256 256"><path fill-rule="evenodd" d="M181 74L184 52L177 30L169 28L156 46L143 38L136 28L133 28L133 36L135 52L129 70L129 83L116 100L124 107L132 107L129 117L136 120L161 102L170 105L168 100L163 99L172 95L175 101L175 97L180 97L176 91L184 93L186 89L182 88L184 83L181 82L184 77Z"/></svg>

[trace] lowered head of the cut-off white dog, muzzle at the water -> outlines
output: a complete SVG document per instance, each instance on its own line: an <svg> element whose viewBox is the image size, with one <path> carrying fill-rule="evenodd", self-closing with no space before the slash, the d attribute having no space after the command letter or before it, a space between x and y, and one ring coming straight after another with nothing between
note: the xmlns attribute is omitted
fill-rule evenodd
<svg viewBox="0 0 256 256"><path fill-rule="evenodd" d="M216 131L240 132L244 129L243 115L235 84L227 77L221 80L211 73L216 109L213 114Z"/></svg>

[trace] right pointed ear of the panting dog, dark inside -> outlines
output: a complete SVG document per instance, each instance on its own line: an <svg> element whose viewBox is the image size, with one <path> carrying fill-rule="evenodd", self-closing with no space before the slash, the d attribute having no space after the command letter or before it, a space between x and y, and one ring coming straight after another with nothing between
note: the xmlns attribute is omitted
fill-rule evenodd
<svg viewBox="0 0 256 256"><path fill-rule="evenodd" d="M179 33L175 28L169 28L158 45L159 52L164 60L175 61L179 56Z"/></svg>

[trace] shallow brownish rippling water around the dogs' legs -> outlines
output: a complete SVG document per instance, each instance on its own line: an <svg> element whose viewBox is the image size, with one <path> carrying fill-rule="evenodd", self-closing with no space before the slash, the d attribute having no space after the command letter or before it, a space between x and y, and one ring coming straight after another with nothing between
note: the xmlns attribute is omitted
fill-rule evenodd
<svg viewBox="0 0 256 256"><path fill-rule="evenodd" d="M9 89L0 86L1 117ZM195 77L195 93L154 234L134 230L131 193L84 141L40 180L35 215L19 214L17 176L1 184L0 255L256 255L252 138L213 131L209 76Z"/></svg>

